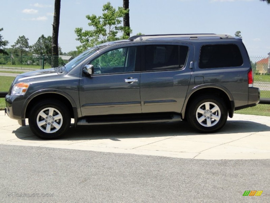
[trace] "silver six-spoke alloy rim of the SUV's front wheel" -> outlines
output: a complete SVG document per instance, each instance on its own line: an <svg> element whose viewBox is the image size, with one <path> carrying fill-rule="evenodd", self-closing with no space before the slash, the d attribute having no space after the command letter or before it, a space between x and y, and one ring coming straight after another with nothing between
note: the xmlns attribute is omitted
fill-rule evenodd
<svg viewBox="0 0 270 203"><path fill-rule="evenodd" d="M43 132L54 133L62 126L63 116L57 109L49 107L39 112L36 122Z"/></svg>

